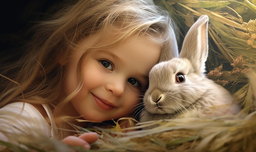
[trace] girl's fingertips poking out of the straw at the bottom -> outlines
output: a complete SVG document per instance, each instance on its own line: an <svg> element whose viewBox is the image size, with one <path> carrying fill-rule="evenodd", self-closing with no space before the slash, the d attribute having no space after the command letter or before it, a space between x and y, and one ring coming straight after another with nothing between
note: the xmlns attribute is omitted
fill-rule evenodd
<svg viewBox="0 0 256 152"><path fill-rule="evenodd" d="M85 149L90 149L90 143L94 143L98 140L98 134L95 132L86 132L81 134L79 137L68 136L62 140L63 143L73 146L82 146Z"/></svg>

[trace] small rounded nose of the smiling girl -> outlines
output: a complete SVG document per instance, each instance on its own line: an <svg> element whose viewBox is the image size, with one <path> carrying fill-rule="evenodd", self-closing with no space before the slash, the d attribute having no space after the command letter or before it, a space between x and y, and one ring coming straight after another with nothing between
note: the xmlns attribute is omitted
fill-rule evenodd
<svg viewBox="0 0 256 152"><path fill-rule="evenodd" d="M122 97L124 94L125 82L124 80L113 79L113 82L106 84L105 88L111 91L113 95Z"/></svg>

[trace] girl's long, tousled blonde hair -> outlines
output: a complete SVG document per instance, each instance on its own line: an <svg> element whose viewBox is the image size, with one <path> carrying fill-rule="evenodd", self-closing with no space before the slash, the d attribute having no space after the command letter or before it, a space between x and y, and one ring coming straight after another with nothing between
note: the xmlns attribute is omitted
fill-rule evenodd
<svg viewBox="0 0 256 152"><path fill-rule="evenodd" d="M152 0L79 0L63 7L36 29L26 48L27 54L1 70L6 77L0 80L0 108L17 101L47 104L54 117L60 116L62 107L82 84L80 79L77 90L60 99L65 64L60 64L58 58L68 61L79 42L94 33L115 31L111 41L97 43L94 46L97 48L120 44L132 36L144 36L162 44L159 61L177 56L175 26L170 14Z"/></svg>

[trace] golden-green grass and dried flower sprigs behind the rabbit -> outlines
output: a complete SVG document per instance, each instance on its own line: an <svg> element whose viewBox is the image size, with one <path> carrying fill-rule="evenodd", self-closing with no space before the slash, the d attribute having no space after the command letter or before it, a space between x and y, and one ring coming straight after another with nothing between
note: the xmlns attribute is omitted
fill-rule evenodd
<svg viewBox="0 0 256 152"><path fill-rule="evenodd" d="M155 0L171 13L184 35L201 15L209 16L209 57L207 72L219 70L211 79L236 97L242 108L252 108L253 94L247 75L256 70L256 0ZM217 69L216 69L217 68ZM220 75L221 73L221 75Z"/></svg>

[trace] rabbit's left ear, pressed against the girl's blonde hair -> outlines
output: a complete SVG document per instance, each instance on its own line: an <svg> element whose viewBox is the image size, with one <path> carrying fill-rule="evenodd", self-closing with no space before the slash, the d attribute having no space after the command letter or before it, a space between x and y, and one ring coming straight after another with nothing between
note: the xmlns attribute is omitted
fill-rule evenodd
<svg viewBox="0 0 256 152"><path fill-rule="evenodd" d="M178 50L175 32L173 29L171 29L170 33L171 33L171 35L169 37L170 39L167 40L167 41L169 41L169 43L165 43L164 46L162 46L163 50L160 55L159 62L168 61L174 57L178 57L179 50ZM170 45L170 44L171 44L171 46L166 46L166 45Z"/></svg>

